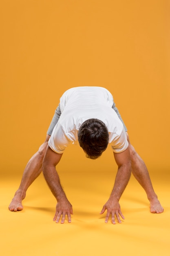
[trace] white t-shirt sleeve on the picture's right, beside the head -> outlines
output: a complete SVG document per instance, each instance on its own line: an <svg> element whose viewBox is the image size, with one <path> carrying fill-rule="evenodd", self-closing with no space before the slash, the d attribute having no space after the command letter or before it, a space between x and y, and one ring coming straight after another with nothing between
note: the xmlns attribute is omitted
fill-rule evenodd
<svg viewBox="0 0 170 256"><path fill-rule="evenodd" d="M128 141L124 128L121 135L114 134L112 135L111 140L110 145L114 153L121 153L128 148Z"/></svg>

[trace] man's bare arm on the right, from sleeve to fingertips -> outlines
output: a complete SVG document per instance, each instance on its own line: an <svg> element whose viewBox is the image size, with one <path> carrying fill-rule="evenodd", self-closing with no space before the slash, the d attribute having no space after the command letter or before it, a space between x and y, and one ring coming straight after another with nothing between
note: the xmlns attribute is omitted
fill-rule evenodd
<svg viewBox="0 0 170 256"><path fill-rule="evenodd" d="M104 207L101 211L101 214L107 210L105 222L108 222L108 218L111 214L112 216L112 223L115 224L115 215L119 223L121 223L119 215L124 219L123 214L121 213L119 199L121 198L126 185L130 179L131 173L131 162L130 162L130 152L129 147L121 153L114 153L115 161L118 166L118 171L115 179L115 184L110 195L110 198L104 204Z"/></svg>

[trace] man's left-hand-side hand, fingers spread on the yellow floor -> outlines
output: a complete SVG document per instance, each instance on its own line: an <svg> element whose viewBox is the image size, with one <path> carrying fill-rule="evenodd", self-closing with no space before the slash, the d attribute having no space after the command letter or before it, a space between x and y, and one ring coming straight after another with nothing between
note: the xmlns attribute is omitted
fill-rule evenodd
<svg viewBox="0 0 170 256"><path fill-rule="evenodd" d="M62 216L61 223L63 224L67 215L68 222L71 222L71 214L73 214L73 209L71 203L66 199L62 201L58 201L56 205L56 212L53 218L53 221L58 223Z"/></svg>

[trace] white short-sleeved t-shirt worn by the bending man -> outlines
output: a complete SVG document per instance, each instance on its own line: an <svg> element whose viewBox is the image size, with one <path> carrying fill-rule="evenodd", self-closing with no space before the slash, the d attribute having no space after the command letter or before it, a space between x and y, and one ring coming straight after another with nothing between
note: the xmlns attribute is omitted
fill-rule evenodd
<svg viewBox="0 0 170 256"><path fill-rule="evenodd" d="M75 87L64 92L60 98L61 115L49 139L50 148L62 154L69 144L78 142L77 134L82 123L96 118L106 125L113 152L126 150L126 132L112 106L112 94L102 87Z"/></svg>

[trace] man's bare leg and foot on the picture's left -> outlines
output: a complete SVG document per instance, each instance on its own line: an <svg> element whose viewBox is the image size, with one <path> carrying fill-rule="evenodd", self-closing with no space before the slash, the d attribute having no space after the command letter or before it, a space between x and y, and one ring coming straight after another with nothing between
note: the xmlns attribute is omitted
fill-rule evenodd
<svg viewBox="0 0 170 256"><path fill-rule="evenodd" d="M42 172L42 161L48 146L49 138L50 135L46 135L46 140L40 146L38 152L36 152L27 163L22 175L21 184L9 205L10 211L21 211L23 209L22 200L26 196L27 189Z"/></svg>

